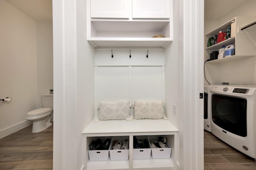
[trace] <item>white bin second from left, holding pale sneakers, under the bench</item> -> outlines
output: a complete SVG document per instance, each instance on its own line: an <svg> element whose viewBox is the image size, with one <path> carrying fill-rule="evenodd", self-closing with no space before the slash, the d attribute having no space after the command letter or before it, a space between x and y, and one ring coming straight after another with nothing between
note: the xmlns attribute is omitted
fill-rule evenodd
<svg viewBox="0 0 256 170"><path fill-rule="evenodd" d="M112 149L113 141L121 141L121 145L122 145L125 139L128 139L129 141L128 136L112 137L110 148L109 148L110 160L128 160L129 159L129 149L116 149L116 150Z"/></svg>

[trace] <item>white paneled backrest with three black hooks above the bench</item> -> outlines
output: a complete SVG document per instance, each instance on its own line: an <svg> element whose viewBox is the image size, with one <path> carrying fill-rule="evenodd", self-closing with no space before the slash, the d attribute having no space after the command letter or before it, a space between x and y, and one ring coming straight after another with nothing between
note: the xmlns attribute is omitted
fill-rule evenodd
<svg viewBox="0 0 256 170"><path fill-rule="evenodd" d="M95 49L95 117L100 102L164 101L164 49L146 55L147 49Z"/></svg>

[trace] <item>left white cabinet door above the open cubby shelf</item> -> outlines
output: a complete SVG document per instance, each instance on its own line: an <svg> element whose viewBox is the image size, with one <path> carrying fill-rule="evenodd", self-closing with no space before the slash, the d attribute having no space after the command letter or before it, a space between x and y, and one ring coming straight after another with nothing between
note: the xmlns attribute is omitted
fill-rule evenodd
<svg viewBox="0 0 256 170"><path fill-rule="evenodd" d="M129 0L91 0L91 18L129 18Z"/></svg>

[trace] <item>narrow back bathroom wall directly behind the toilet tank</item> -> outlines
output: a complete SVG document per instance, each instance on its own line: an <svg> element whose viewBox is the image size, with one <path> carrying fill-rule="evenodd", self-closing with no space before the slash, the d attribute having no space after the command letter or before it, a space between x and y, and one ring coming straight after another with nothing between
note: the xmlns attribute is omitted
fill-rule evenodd
<svg viewBox="0 0 256 170"><path fill-rule="evenodd" d="M37 21L37 100L42 107L41 95L53 88L52 21Z"/></svg>

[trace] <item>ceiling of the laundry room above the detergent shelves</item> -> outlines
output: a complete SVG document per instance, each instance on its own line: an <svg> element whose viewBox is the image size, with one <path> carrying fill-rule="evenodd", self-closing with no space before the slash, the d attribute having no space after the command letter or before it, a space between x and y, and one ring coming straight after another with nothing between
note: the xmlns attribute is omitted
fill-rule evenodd
<svg viewBox="0 0 256 170"><path fill-rule="evenodd" d="M204 0L204 20L219 20L247 0Z"/></svg>

